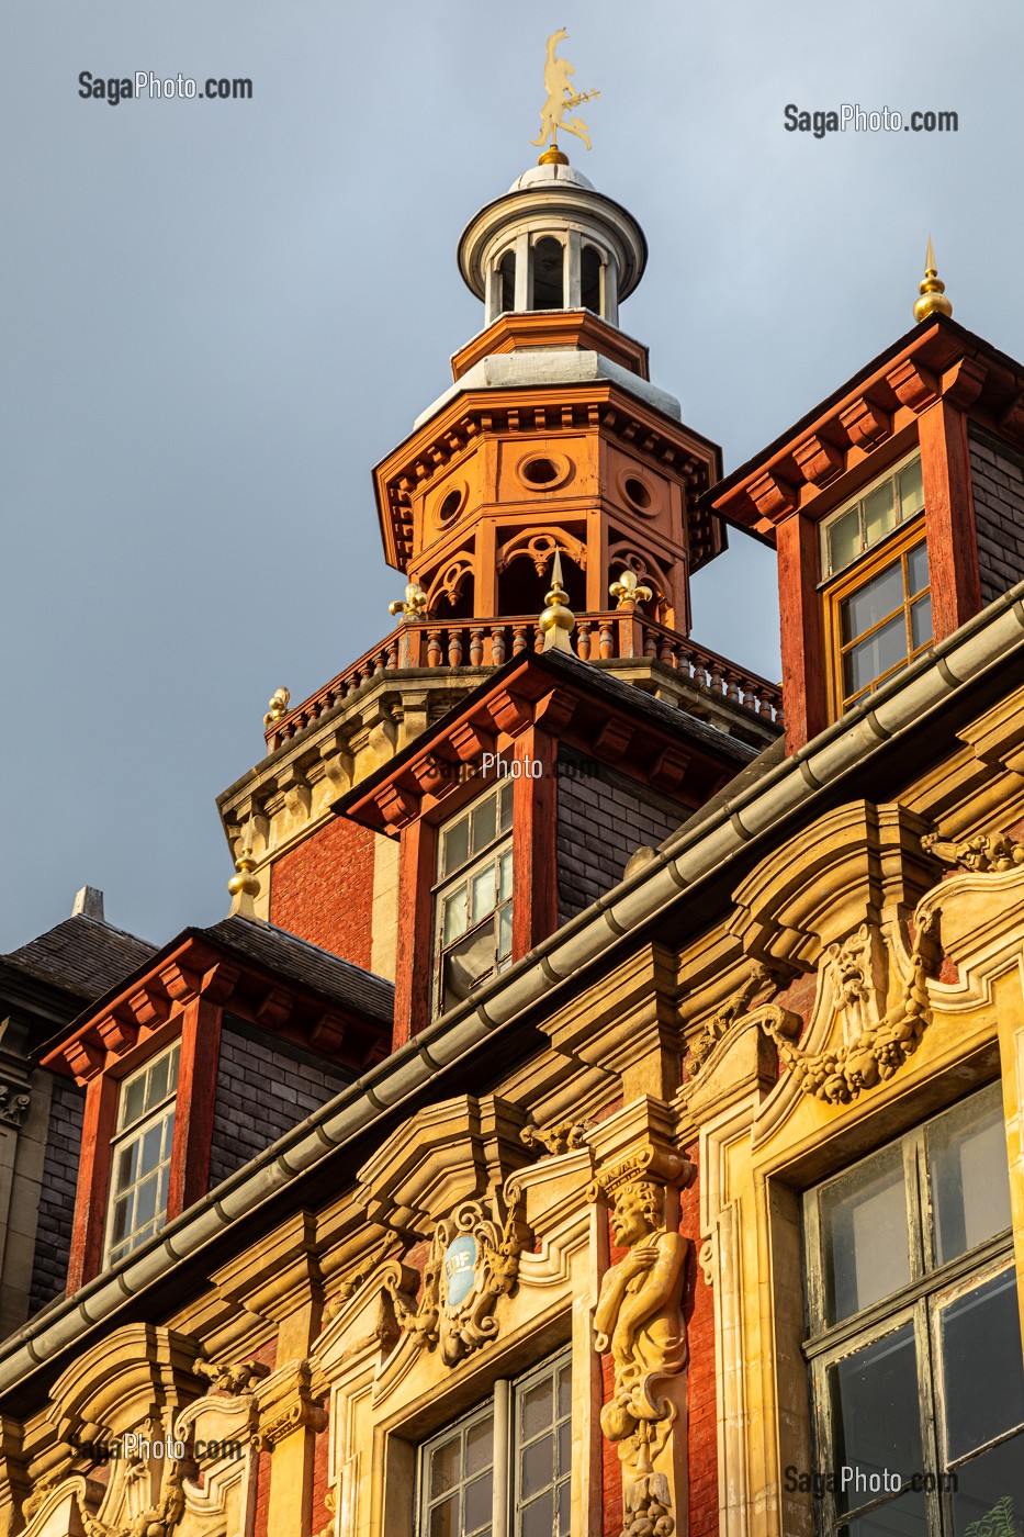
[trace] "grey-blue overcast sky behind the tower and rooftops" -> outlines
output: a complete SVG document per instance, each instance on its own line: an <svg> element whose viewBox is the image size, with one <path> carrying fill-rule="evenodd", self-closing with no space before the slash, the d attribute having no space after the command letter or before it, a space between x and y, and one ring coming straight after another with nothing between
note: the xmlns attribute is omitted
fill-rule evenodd
<svg viewBox="0 0 1024 1537"><path fill-rule="evenodd" d="M228 907L215 796L391 629L371 467L483 323L455 244L534 163L564 25L650 263L621 314L730 469L912 323L1024 355L1019 74L1002 0L509 6L35 0L8 15L0 950L71 910L165 942ZM249 77L251 101L78 95ZM956 134L786 132L784 108L956 111ZM743 547L741 547L743 546ZM778 678L770 552L733 535L695 636Z"/></svg>

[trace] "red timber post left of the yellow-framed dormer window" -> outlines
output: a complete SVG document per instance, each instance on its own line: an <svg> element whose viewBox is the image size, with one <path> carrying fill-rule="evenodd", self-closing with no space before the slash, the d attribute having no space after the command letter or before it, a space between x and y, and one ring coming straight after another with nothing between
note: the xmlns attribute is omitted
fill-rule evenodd
<svg viewBox="0 0 1024 1537"><path fill-rule="evenodd" d="M790 753L824 730L829 718L818 550L816 523L790 513L778 526L783 699Z"/></svg>

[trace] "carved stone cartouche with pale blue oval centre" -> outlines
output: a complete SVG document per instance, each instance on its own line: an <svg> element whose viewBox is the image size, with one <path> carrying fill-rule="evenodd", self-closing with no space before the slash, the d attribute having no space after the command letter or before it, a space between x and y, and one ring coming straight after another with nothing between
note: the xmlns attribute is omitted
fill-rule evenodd
<svg viewBox="0 0 1024 1537"><path fill-rule="evenodd" d="M400 1262L384 1270L398 1325L420 1345L440 1348L446 1366L480 1349L498 1334L494 1310L506 1297L520 1273L520 1194L510 1190L512 1205L504 1223L484 1216L475 1200L463 1202L450 1217L438 1222L431 1254L423 1271L420 1303L406 1290L407 1271Z"/></svg>

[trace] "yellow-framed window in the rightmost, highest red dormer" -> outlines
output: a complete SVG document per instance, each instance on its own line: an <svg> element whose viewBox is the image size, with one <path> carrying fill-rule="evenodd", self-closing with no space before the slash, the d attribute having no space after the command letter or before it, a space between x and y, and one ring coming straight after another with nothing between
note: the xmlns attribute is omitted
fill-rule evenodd
<svg viewBox="0 0 1024 1537"><path fill-rule="evenodd" d="M869 486L821 529L833 715L932 644L932 595L919 455Z"/></svg>

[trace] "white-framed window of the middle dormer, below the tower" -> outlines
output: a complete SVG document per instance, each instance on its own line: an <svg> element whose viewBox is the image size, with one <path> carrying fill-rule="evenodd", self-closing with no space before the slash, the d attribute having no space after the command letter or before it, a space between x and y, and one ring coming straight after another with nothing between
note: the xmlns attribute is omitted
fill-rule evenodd
<svg viewBox="0 0 1024 1537"><path fill-rule="evenodd" d="M512 959L512 784L504 779L438 833L437 987L441 1011Z"/></svg>

